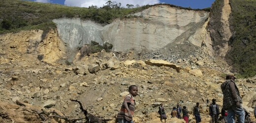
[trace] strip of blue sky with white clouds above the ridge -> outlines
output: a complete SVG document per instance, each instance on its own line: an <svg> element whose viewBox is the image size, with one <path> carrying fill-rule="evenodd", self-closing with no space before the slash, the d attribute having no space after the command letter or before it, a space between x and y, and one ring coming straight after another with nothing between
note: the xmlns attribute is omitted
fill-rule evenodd
<svg viewBox="0 0 256 123"><path fill-rule="evenodd" d="M48 2L48 3L58 3L67 6L78 6L78 7L88 7L91 5L96 5L97 7L102 7L108 0L30 0L36 2ZM168 3L182 7L191 8L207 8L212 5L215 0L111 0L121 3L123 7L126 4L136 4L146 5L146 4L156 4L156 3Z"/></svg>

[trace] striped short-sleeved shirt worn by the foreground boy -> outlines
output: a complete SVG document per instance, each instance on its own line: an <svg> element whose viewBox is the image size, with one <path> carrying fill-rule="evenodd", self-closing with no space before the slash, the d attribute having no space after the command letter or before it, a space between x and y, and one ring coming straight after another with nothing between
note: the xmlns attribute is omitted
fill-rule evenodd
<svg viewBox="0 0 256 123"><path fill-rule="evenodd" d="M131 95L131 94L128 94L125 99L124 99L124 102L127 102L128 104L128 107L129 107L129 110L130 110L130 114L133 115L134 111L135 111L135 108L134 108L134 105L135 105L135 98ZM122 107L121 107L121 110L120 112L117 114L117 119L126 119L127 121L131 121L132 118L129 117L128 115L128 111L127 109L125 108L125 105L124 105L124 102L122 104Z"/></svg>

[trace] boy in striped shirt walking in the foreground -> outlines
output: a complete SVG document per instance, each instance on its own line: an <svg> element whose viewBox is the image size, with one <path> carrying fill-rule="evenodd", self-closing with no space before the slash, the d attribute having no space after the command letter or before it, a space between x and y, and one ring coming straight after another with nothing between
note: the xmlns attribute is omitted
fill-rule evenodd
<svg viewBox="0 0 256 123"><path fill-rule="evenodd" d="M118 123L133 123L132 115L134 113L135 96L138 93L138 87L135 85L129 86L129 94L125 97L120 112L117 114Z"/></svg>

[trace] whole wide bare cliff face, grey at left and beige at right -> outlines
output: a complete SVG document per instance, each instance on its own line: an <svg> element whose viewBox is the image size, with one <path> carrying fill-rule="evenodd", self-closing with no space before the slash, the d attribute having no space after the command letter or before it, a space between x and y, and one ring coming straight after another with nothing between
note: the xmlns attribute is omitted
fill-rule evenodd
<svg viewBox="0 0 256 123"><path fill-rule="evenodd" d="M157 5L135 13L137 19L116 20L104 27L80 19L57 19L58 33L70 49L91 43L113 44L114 51L157 50L169 43L191 42L201 47L211 44L205 34L208 12L185 10L168 5ZM212 54L211 45L208 51Z"/></svg>

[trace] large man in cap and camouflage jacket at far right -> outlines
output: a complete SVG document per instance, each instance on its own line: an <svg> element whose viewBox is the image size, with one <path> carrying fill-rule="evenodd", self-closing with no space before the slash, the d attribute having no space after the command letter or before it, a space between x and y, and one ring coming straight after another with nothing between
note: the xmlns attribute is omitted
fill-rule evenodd
<svg viewBox="0 0 256 123"><path fill-rule="evenodd" d="M245 111L243 110L242 98L235 84L236 77L233 73L226 75L226 81L221 85L223 92L223 108L227 110L227 123L235 122L235 114L239 118L239 123L245 121Z"/></svg>

